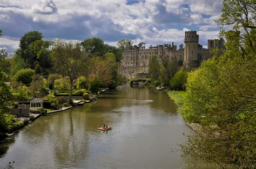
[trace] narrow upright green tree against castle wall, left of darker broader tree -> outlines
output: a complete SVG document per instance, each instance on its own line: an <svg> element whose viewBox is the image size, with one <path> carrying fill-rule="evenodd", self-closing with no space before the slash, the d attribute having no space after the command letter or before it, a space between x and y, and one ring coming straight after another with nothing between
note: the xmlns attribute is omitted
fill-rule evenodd
<svg viewBox="0 0 256 169"><path fill-rule="evenodd" d="M149 64L149 75L150 75L150 80L156 81L159 80L159 73L160 72L160 63L157 60L157 56L153 55L150 64Z"/></svg>

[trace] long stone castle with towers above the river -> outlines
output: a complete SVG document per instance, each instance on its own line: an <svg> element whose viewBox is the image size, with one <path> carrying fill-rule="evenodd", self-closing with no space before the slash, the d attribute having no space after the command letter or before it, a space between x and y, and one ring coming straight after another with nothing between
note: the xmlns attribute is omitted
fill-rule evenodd
<svg viewBox="0 0 256 169"><path fill-rule="evenodd" d="M185 47L177 50L177 45L157 45L150 46L148 49L134 45L126 48L122 53L120 71L127 78L140 78L139 72L147 72L150 59L153 55L157 56L159 62L164 60L176 60L179 66L186 68L198 67L203 60L212 57L210 53L213 48L224 48L223 39L208 40L207 49L200 48L198 45L199 35L197 31L185 32Z"/></svg>

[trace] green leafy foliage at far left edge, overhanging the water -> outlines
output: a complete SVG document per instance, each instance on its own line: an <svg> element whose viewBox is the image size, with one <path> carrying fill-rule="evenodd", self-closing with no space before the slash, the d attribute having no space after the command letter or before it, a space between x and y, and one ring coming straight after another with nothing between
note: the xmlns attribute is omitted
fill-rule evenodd
<svg viewBox="0 0 256 169"><path fill-rule="evenodd" d="M4 83L7 79L7 75L0 68L0 135L2 136L14 125L14 122L12 122L14 116L9 114L10 108L8 105L12 104L15 95L11 87Z"/></svg>

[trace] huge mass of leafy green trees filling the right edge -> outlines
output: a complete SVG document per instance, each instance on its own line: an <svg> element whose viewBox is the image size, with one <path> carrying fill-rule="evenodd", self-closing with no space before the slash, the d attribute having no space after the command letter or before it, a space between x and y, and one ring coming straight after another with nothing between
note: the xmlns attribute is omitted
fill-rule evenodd
<svg viewBox="0 0 256 169"><path fill-rule="evenodd" d="M255 166L255 2L224 0L217 23L231 29L222 30L226 50L188 74L179 112L202 128L181 150L217 164Z"/></svg>

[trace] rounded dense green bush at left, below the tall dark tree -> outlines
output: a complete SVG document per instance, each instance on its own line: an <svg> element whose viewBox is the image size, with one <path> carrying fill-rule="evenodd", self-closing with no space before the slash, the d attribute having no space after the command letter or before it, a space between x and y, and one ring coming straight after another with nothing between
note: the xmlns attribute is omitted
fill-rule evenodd
<svg viewBox="0 0 256 169"><path fill-rule="evenodd" d="M35 71L32 69L21 69L15 74L15 80L17 82L22 82L24 85L29 85L32 82L32 76Z"/></svg>

